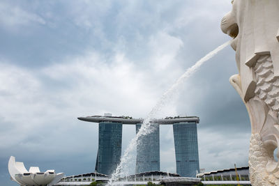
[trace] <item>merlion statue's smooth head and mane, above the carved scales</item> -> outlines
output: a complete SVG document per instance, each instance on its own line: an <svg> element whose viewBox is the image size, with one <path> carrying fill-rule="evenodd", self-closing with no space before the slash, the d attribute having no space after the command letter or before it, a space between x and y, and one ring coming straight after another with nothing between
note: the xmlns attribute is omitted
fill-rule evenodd
<svg viewBox="0 0 279 186"><path fill-rule="evenodd" d="M236 51L243 100L247 102L255 95L255 77L250 68L259 56L270 54L274 74L279 76L279 1L234 0L221 29L234 38L232 48Z"/></svg>

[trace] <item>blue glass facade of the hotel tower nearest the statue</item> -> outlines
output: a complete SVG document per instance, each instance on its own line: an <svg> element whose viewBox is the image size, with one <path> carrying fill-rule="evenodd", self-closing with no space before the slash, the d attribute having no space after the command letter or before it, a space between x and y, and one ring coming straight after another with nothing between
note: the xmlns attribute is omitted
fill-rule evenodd
<svg viewBox="0 0 279 186"><path fill-rule="evenodd" d="M180 176L195 178L199 171L197 124L174 123L173 129L176 172Z"/></svg>

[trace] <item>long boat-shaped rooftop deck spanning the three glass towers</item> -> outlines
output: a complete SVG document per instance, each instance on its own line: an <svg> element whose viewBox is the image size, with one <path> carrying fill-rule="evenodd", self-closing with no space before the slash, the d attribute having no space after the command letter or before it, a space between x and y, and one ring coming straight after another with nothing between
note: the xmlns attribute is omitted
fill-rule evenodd
<svg viewBox="0 0 279 186"><path fill-rule="evenodd" d="M132 118L130 116L86 116L79 117L81 121L88 121L94 123L100 122L113 122L113 123L123 123L127 125L135 125L142 123L143 118ZM158 123L160 125L172 125L174 123L199 123L199 117L197 116L175 116L166 117L162 119L152 119L153 123Z"/></svg>

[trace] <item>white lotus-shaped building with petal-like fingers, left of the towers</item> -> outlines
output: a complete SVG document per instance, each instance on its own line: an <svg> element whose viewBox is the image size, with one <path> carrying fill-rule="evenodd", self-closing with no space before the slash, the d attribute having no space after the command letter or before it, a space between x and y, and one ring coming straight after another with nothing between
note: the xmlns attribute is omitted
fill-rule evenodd
<svg viewBox="0 0 279 186"><path fill-rule="evenodd" d="M15 157L11 156L8 162L10 177L20 185L24 186L52 186L63 178L64 173L55 173L54 170L40 172L38 166L31 166L29 171L23 162L15 162Z"/></svg>

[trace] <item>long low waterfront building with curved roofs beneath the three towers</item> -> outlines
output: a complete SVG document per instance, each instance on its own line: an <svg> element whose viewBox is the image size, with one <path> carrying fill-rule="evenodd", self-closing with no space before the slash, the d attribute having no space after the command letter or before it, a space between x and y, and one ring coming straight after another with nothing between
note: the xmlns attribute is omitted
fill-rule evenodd
<svg viewBox="0 0 279 186"><path fill-rule="evenodd" d="M236 171L232 169L223 169L211 171L208 173L199 173L197 178L181 177L177 173L163 171L150 171L136 173L117 178L114 185L148 185L152 182L156 185L198 185L202 182L204 185L251 185L249 180L249 167L237 168L239 181L236 178ZM110 176L101 173L83 173L73 176L63 177L56 185L90 185L92 181L105 184Z"/></svg>

